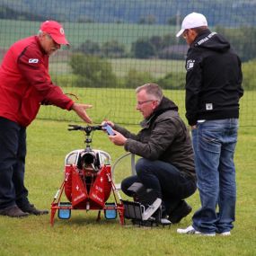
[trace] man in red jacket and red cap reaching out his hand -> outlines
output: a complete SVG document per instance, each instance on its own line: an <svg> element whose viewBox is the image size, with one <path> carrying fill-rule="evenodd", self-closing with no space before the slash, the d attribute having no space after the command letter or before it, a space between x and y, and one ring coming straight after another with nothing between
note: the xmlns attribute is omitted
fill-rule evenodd
<svg viewBox="0 0 256 256"><path fill-rule="evenodd" d="M37 36L11 46L0 66L0 216L48 214L30 203L24 186L26 127L40 104L74 110L91 122L85 110L92 106L73 102L49 76L49 56L68 44L61 24L43 22Z"/></svg>

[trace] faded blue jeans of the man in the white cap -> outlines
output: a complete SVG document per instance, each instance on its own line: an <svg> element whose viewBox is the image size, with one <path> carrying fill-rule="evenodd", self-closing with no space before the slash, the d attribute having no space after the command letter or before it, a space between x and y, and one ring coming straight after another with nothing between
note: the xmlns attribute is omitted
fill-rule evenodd
<svg viewBox="0 0 256 256"><path fill-rule="evenodd" d="M234 227L237 130L238 119L207 120L192 130L201 200L192 220L200 232L223 233Z"/></svg>

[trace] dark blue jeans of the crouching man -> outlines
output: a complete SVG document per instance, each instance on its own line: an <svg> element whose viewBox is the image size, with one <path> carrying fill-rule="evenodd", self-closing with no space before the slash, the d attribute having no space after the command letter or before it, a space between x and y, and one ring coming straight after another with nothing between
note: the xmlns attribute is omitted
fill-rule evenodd
<svg viewBox="0 0 256 256"><path fill-rule="evenodd" d="M182 199L190 197L196 190L196 181L186 177L171 163L150 161L140 158L136 164L137 175L121 182L121 190L132 196L128 188L134 182L141 182L146 189L153 189L156 196L163 200L163 209L168 214L177 207Z"/></svg>

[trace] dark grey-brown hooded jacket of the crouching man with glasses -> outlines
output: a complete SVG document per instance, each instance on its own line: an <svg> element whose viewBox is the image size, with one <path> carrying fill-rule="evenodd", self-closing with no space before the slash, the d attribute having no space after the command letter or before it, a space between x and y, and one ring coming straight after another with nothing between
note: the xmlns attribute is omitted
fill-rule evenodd
<svg viewBox="0 0 256 256"><path fill-rule="evenodd" d="M178 114L178 107L163 97L153 114L141 122L137 135L114 126L128 140L125 149L149 160L172 163L180 172L196 180L194 154L188 128Z"/></svg>

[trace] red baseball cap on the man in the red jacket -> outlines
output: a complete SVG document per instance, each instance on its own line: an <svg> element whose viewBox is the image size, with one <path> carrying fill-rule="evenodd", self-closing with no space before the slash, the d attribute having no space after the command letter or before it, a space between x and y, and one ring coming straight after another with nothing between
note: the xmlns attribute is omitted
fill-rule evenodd
<svg viewBox="0 0 256 256"><path fill-rule="evenodd" d="M49 33L51 38L57 42L57 44L69 45L69 42L66 40L65 32L62 25L55 21L46 21L42 22L40 25L40 31Z"/></svg>

